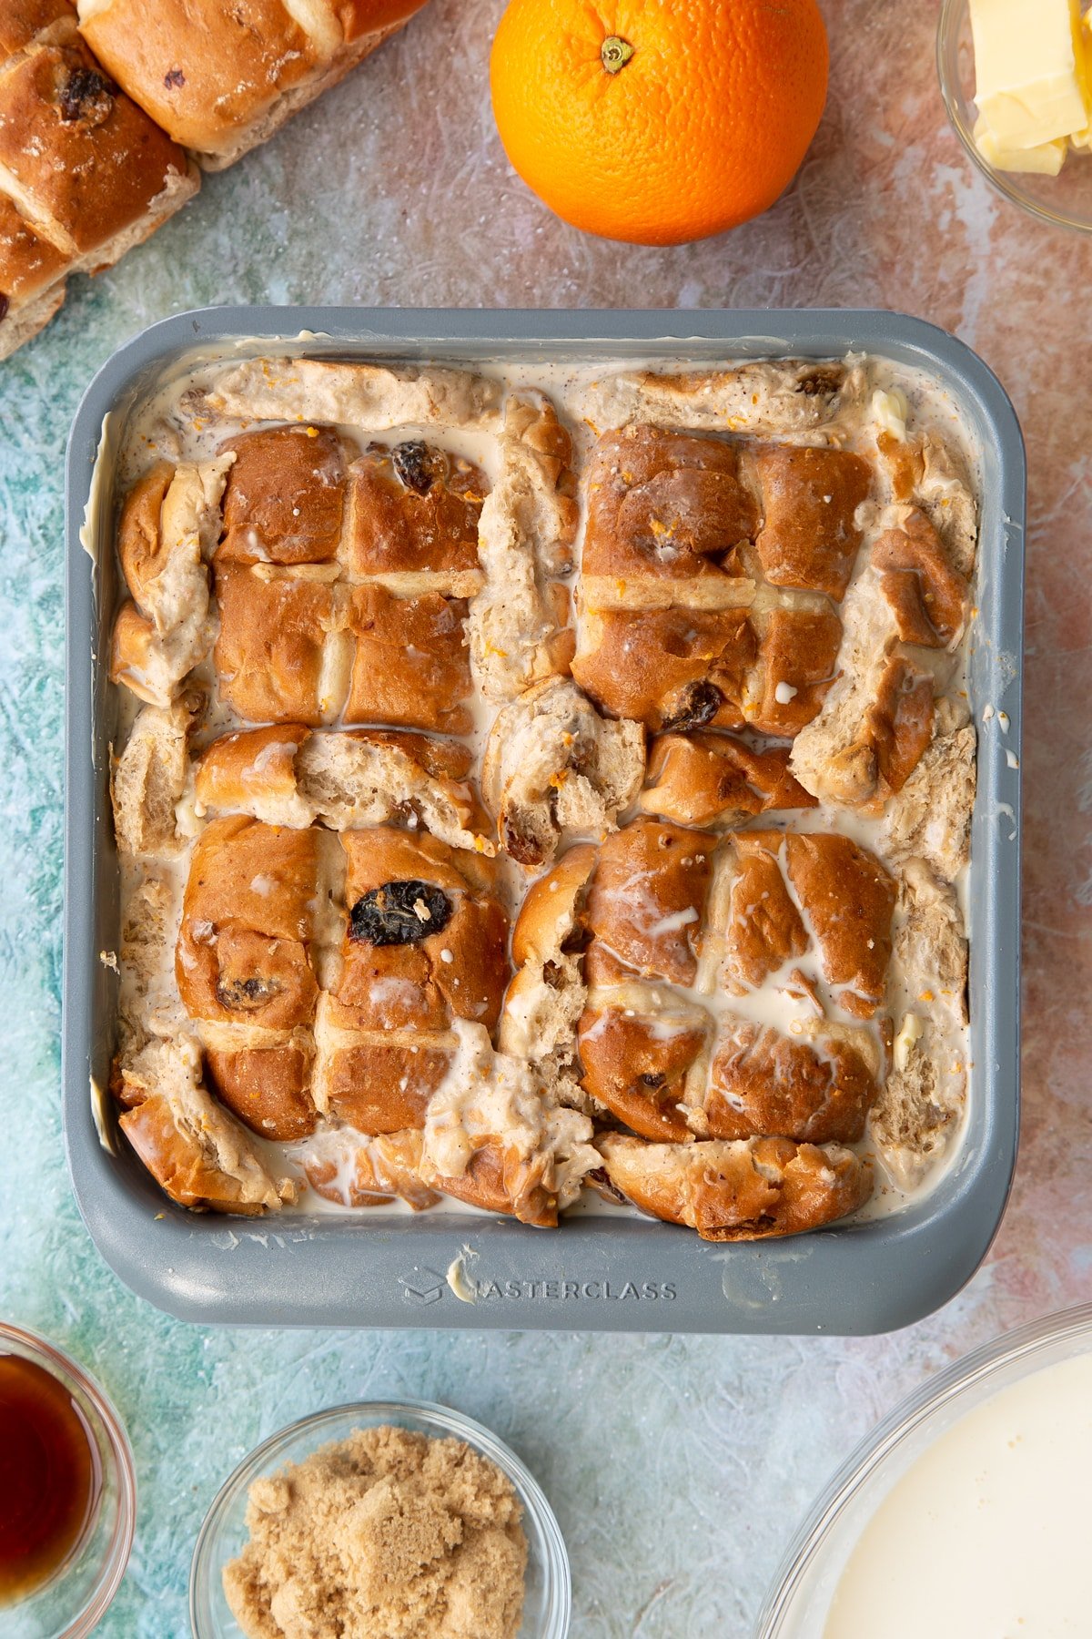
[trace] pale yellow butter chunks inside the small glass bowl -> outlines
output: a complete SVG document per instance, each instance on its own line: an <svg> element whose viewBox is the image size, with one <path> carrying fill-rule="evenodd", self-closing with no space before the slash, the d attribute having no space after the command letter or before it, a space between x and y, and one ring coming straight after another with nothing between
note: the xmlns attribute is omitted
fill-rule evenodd
<svg viewBox="0 0 1092 1639"><path fill-rule="evenodd" d="M1079 0L971 0L971 30L974 100L1005 151L1089 125Z"/></svg>

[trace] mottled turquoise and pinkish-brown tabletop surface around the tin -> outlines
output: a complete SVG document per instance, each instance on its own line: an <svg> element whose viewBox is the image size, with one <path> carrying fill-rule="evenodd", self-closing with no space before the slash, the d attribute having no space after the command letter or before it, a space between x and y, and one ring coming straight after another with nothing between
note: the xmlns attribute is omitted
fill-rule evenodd
<svg viewBox="0 0 1092 1639"><path fill-rule="evenodd" d="M0 365L0 1313L72 1349L129 1424L129 1575L100 1632L182 1639L193 1537L264 1434L409 1393L491 1423L550 1495L575 1639L743 1639L807 1501L904 1392L1005 1326L1092 1296L1085 1090L1092 905L1089 251L971 172L933 77L936 7L827 0L832 95L761 221L676 251L557 223L509 172L486 95L503 0L432 0L406 33ZM62 452L138 328L218 302L905 308L999 372L1031 470L1025 1134L990 1262L891 1337L231 1334L123 1290L69 1195L59 1128Z"/></svg>

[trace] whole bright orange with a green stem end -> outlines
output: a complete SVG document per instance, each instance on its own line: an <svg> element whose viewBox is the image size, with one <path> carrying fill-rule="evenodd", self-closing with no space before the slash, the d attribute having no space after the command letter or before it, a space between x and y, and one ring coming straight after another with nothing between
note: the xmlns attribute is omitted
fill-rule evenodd
<svg viewBox="0 0 1092 1639"><path fill-rule="evenodd" d="M766 210L827 100L815 0L511 0L493 111L565 221L681 244Z"/></svg>

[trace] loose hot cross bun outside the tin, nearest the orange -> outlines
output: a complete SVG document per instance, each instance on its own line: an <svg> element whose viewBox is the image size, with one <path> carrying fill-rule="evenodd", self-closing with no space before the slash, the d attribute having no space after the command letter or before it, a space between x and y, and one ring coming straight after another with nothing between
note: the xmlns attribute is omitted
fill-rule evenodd
<svg viewBox="0 0 1092 1639"><path fill-rule="evenodd" d="M424 0L79 0L126 92L206 170L223 170L336 85Z"/></svg>

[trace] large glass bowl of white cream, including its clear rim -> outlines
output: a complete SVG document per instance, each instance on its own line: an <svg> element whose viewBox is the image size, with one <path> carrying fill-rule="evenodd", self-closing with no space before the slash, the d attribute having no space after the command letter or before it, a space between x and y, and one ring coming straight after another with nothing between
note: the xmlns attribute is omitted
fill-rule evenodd
<svg viewBox="0 0 1092 1639"><path fill-rule="evenodd" d="M1092 1305L930 1378L833 1477L756 1639L1089 1632Z"/></svg>

